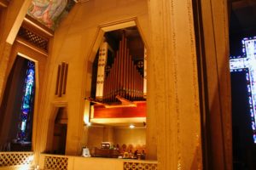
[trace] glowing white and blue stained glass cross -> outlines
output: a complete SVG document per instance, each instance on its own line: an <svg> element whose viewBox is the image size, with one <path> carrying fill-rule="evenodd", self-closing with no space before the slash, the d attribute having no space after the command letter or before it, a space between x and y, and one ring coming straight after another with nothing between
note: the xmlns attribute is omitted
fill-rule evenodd
<svg viewBox="0 0 256 170"><path fill-rule="evenodd" d="M241 43L243 55L230 57L230 72L246 71L253 142L256 144L256 37L244 38Z"/></svg>

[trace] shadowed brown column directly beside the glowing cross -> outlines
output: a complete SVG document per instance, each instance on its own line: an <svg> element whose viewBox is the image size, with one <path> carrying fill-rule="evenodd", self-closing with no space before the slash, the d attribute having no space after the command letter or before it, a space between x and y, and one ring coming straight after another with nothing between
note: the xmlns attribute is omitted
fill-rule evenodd
<svg viewBox="0 0 256 170"><path fill-rule="evenodd" d="M200 1L199 1L200 2ZM230 93L230 50L228 4L226 0L201 1L201 26L204 54L205 101L208 139L207 166L232 169L232 123Z"/></svg>

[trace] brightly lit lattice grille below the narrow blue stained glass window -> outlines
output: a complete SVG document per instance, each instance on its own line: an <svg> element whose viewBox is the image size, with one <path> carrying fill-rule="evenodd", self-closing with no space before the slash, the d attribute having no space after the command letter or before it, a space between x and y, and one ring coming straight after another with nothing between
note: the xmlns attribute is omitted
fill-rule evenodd
<svg viewBox="0 0 256 170"><path fill-rule="evenodd" d="M9 167L15 165L32 165L32 157L32 152L0 153L0 167Z"/></svg>

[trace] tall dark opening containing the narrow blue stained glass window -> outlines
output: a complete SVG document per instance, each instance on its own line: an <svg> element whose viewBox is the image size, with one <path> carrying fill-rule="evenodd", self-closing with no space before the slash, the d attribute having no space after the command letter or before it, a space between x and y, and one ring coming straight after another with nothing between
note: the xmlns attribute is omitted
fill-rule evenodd
<svg viewBox="0 0 256 170"><path fill-rule="evenodd" d="M18 55L10 71L0 107L1 150L32 150L35 90L35 62Z"/></svg>

